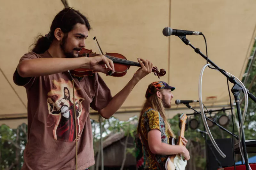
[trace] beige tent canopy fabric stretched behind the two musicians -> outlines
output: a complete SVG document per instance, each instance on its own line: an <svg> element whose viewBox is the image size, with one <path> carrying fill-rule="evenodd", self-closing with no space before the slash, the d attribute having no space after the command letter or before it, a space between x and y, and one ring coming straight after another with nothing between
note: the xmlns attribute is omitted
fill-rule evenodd
<svg viewBox="0 0 256 170"><path fill-rule="evenodd" d="M138 57L145 58L159 70L166 70L160 80L176 87L172 109L166 111L168 118L180 112L193 112L184 105L175 105L174 100L198 100L199 74L206 60L180 38L165 37L164 27L204 33L209 59L240 80L254 43L256 1L252 0L70 0L69 5L89 18L92 30L86 40L87 49L99 52L93 41L96 36L104 53L120 53L135 62ZM26 91L13 83L12 76L20 57L28 52L37 35L50 31L52 19L63 7L60 0L11 0L0 6L1 124L15 127L26 123ZM187 36L187 39L206 55L202 36ZM137 69L132 66L121 78L100 75L114 96ZM127 120L139 115L148 84L158 80L153 73L143 78L114 116ZM207 68L202 86L203 102L209 109L229 106L227 80L219 71ZM91 118L98 120L98 117L92 110Z"/></svg>

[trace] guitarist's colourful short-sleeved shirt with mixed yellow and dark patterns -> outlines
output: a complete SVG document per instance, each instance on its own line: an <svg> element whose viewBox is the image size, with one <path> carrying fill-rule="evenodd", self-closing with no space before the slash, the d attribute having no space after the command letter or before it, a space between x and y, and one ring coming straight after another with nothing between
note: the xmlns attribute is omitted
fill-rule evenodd
<svg viewBox="0 0 256 170"><path fill-rule="evenodd" d="M159 166L161 166L163 169L165 166L165 161L168 158L168 155L153 154L148 149L148 132L153 129L159 129L162 134L162 142L169 144L170 135L169 133L167 133L167 127L165 128L164 119L162 118L158 111L153 110L152 108L148 108L142 115L140 124L140 130L142 135L140 138L142 143L142 160L144 161L144 169L160 169Z"/></svg>

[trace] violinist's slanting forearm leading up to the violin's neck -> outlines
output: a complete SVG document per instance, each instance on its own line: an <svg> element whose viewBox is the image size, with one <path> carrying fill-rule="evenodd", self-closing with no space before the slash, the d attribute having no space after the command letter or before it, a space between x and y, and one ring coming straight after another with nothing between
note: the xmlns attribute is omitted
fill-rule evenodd
<svg viewBox="0 0 256 170"><path fill-rule="evenodd" d="M123 105L124 101L127 99L132 89L138 82L139 80L133 77L127 83L127 85L113 97L113 99L108 103L108 105L102 110L100 110L100 115L108 119L114 113L116 113L116 111Z"/></svg>

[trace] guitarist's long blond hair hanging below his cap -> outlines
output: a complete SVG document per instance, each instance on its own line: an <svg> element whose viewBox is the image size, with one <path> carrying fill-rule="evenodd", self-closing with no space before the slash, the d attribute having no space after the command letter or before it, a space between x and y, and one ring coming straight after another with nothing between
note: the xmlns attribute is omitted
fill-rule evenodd
<svg viewBox="0 0 256 170"><path fill-rule="evenodd" d="M162 92L163 89L158 90L159 92ZM143 107L141 109L140 112L140 118L139 118L139 122L138 122L138 127L137 127L137 133L138 135L140 134L140 125L141 125L141 117L144 114L144 112L146 111L146 109L148 107L151 107L152 109L158 111L160 113L160 115L162 116L164 123L165 123L165 127L167 127L168 129L168 133L170 134L171 137L175 137L172 129L171 129L171 125L170 123L167 121L166 115L165 115L165 111L164 111L164 105L161 99L158 98L158 96L156 95L156 93L152 94L143 104Z"/></svg>

